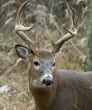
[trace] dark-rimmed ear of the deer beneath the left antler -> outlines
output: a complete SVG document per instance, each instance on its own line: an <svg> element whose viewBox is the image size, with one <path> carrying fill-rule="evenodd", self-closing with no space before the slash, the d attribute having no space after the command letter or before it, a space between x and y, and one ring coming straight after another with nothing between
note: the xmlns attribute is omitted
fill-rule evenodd
<svg viewBox="0 0 92 110"><path fill-rule="evenodd" d="M17 44L17 45L15 45L15 50L19 57L21 57L23 59L26 59L29 57L29 49L27 47Z"/></svg>

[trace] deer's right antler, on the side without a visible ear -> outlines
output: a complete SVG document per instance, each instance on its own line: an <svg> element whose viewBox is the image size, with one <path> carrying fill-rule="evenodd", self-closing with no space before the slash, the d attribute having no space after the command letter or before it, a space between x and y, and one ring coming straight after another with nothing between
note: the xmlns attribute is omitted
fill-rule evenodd
<svg viewBox="0 0 92 110"><path fill-rule="evenodd" d="M60 38L57 42L52 41L52 46L54 49L54 52L58 52L61 48L61 46L69 39L73 38L75 35L77 35L77 29L73 26L73 18L72 18L72 12L70 10L69 5L67 4L68 13L70 15L69 19L69 29L67 29L65 26L63 28L68 32L67 34L63 35L62 38Z"/></svg>

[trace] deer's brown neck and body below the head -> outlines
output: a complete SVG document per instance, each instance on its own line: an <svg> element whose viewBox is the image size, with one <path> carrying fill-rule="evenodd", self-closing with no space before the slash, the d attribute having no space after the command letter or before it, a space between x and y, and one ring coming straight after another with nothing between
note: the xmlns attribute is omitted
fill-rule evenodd
<svg viewBox="0 0 92 110"><path fill-rule="evenodd" d="M32 87L30 81L37 110L92 110L92 73L55 71L54 84L46 88Z"/></svg>

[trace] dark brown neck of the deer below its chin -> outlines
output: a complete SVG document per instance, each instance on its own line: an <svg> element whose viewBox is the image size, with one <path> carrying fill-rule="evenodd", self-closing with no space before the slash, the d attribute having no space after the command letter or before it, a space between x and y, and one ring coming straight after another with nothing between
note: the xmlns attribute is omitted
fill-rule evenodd
<svg viewBox="0 0 92 110"><path fill-rule="evenodd" d="M57 80L50 87L31 87L31 93L35 100L37 110L51 110L55 100Z"/></svg>

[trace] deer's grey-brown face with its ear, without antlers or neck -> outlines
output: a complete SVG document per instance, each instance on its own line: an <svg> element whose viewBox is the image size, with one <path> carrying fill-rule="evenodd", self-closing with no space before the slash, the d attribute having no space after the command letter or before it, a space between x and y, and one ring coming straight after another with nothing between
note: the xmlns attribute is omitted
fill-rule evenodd
<svg viewBox="0 0 92 110"><path fill-rule="evenodd" d="M55 58L52 52L48 50L33 52L22 45L16 45L15 49L19 57L29 59L31 65L29 77L36 85L37 83L43 86L53 84Z"/></svg>

